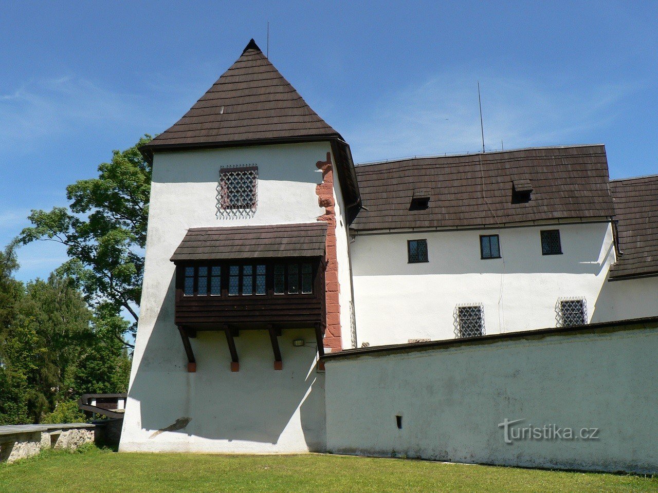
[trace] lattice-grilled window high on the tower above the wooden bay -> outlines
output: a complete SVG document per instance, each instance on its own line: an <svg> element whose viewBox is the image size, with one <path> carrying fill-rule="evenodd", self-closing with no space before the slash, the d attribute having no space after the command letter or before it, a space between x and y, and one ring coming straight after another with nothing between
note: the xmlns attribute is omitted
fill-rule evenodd
<svg viewBox="0 0 658 493"><path fill-rule="evenodd" d="M232 166L219 170L217 217L251 218L258 206L258 166Z"/></svg>

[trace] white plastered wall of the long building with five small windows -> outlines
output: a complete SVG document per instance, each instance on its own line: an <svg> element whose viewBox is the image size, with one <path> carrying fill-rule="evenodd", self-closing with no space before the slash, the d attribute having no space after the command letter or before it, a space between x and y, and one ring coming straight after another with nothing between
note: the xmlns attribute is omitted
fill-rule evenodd
<svg viewBox="0 0 658 493"><path fill-rule="evenodd" d="M559 229L563 254L542 255L540 231ZM480 258L480 235L502 258ZM407 263L407 240L427 239L429 262ZM359 234L351 244L359 344L453 339L455 307L482 303L485 333L555 327L561 297L586 298L592 319L615 262L608 222L470 231ZM614 319L614 318L613 318Z"/></svg>

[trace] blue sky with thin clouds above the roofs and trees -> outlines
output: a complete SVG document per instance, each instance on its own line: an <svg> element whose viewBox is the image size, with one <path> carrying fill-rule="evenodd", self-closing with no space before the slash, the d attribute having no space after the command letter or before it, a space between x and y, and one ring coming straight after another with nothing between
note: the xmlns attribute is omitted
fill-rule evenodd
<svg viewBox="0 0 658 493"><path fill-rule="evenodd" d="M482 5L486 4L486 5ZM605 143L658 172L658 3L0 3L0 242L113 149L176 122L249 39L357 162ZM65 260L20 250L20 279Z"/></svg>

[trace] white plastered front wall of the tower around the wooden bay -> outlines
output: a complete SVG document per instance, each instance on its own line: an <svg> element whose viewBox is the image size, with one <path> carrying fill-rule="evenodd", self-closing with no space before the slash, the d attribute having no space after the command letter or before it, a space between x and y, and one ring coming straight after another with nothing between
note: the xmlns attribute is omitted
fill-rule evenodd
<svg viewBox="0 0 658 493"><path fill-rule="evenodd" d="M293 347L291 342L303 337L315 343L313 329L283 330L282 371L272 368L264 331L241 331L237 373L230 372L224 335L199 333L191 340L197 371L188 373L174 325L174 264L169 259L190 227L315 222L324 214L315 190L322 181L316 162L328 152L329 143L305 143L155 154L141 312L120 450L324 448L324 382L313 369L315 346ZM219 168L251 164L259 168L255 215L218 219Z"/></svg>

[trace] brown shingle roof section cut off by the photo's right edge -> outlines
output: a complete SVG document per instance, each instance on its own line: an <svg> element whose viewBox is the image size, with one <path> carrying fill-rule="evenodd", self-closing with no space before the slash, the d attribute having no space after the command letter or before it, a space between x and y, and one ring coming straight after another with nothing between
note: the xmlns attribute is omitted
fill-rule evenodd
<svg viewBox="0 0 658 493"><path fill-rule="evenodd" d="M610 189L622 251L610 278L658 275L658 175L616 179Z"/></svg>

